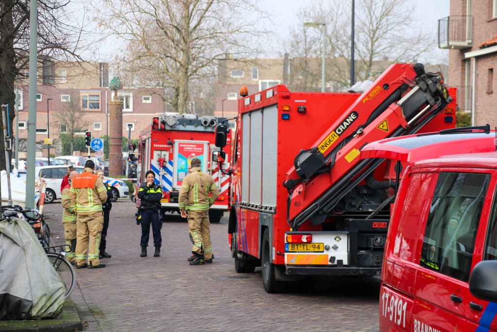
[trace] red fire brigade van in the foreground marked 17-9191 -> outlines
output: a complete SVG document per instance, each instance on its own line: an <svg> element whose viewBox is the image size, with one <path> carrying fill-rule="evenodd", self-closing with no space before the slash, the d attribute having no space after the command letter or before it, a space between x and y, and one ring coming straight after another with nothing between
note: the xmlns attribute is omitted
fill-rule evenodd
<svg viewBox="0 0 497 332"><path fill-rule="evenodd" d="M405 168L385 245L381 331L497 331L496 132L474 128L361 151Z"/></svg>

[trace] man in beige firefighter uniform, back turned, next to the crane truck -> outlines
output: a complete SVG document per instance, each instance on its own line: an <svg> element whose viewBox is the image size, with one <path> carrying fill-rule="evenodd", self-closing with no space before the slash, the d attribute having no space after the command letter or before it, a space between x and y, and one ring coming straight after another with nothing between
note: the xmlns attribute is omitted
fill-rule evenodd
<svg viewBox="0 0 497 332"><path fill-rule="evenodd" d="M192 252L195 259L190 265L202 265L205 262L212 263L209 207L219 196L219 189L212 176L200 171L200 159L193 158L190 166L190 174L185 176L179 190L178 203L181 217L188 218L188 228L193 238Z"/></svg>

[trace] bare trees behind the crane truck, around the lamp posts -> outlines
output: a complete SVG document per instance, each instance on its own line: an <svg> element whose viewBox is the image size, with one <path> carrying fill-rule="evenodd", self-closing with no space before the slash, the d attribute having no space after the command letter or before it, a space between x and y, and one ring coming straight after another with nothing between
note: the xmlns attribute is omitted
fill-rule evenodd
<svg viewBox="0 0 497 332"><path fill-rule="evenodd" d="M314 1L302 12L290 42L292 83L318 90L321 35L318 29L303 27L304 21L317 21L327 27L327 84L331 90L343 90L350 82L350 1ZM407 0L356 1L356 81L374 80L390 64L415 61L436 47L433 37L415 32L415 12L414 3Z"/></svg>

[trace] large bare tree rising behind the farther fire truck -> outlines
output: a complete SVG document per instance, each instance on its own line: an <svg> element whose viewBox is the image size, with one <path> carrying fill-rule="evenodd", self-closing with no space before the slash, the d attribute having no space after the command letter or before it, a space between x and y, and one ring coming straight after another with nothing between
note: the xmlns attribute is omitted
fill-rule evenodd
<svg viewBox="0 0 497 332"><path fill-rule="evenodd" d="M164 87L173 111L188 108L189 84L215 75L218 60L253 56L261 12L251 0L103 0L97 20L127 46L125 85ZM247 15L250 13L250 15ZM123 74L125 72L125 74Z"/></svg>

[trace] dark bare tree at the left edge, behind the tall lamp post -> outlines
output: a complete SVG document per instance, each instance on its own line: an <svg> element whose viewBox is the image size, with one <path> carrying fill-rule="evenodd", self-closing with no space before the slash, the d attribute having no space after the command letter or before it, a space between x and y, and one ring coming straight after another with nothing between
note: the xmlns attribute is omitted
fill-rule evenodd
<svg viewBox="0 0 497 332"><path fill-rule="evenodd" d="M73 61L82 59L81 36L83 26L67 10L69 1L38 1L38 63L47 64L50 59ZM0 104L14 105L16 83L28 79L29 63L29 0L0 1ZM39 71L40 73L40 71ZM40 73L43 83L52 73ZM10 113L12 127L14 112ZM0 118L0 150L3 151L3 130ZM10 162L10 161L9 161ZM5 168L5 158L0 154L0 168Z"/></svg>

